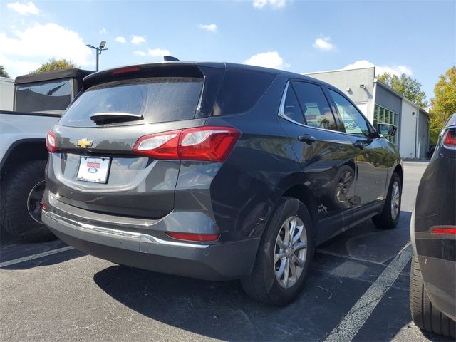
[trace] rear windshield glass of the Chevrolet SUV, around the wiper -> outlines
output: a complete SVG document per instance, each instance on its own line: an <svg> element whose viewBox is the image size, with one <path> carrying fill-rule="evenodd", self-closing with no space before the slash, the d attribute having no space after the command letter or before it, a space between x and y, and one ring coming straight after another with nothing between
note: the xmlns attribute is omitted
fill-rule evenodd
<svg viewBox="0 0 456 342"><path fill-rule="evenodd" d="M202 85L202 78L180 77L103 83L82 93L63 115L60 124L93 127L96 124L90 120L90 115L109 112L142 115L142 123L192 119L195 118Z"/></svg>

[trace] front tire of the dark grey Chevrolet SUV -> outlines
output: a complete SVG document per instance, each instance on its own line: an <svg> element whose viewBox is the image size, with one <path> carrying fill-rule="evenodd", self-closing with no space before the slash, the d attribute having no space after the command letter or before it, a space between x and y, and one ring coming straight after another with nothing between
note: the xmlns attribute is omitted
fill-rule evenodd
<svg viewBox="0 0 456 342"><path fill-rule="evenodd" d="M397 214L393 214L393 209L392 209L392 201L397 198L393 197L393 192L395 189L395 185L398 185L398 203L396 203L397 206ZM380 214L374 216L372 218L373 223L377 228L380 229L393 229L396 227L396 224L399 222L399 216L400 216L400 204L402 202L402 182L400 182L400 177L396 172L393 172L393 175L391 176L390 180L390 185L388 187L388 195L386 195L385 199L385 204L383 204L383 210Z"/></svg>

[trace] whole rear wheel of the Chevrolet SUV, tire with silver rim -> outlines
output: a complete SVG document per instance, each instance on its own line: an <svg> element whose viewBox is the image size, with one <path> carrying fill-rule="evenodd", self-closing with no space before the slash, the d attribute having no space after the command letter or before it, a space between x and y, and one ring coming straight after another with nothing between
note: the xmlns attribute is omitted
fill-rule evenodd
<svg viewBox="0 0 456 342"><path fill-rule="evenodd" d="M288 245L285 241L289 240L285 235L286 227L292 229L293 222L296 223L295 234L293 234L295 239L291 241L296 240L292 245L296 249L291 247L282 249L279 244L284 247ZM304 239L306 248L303 248ZM252 299L265 304L276 306L289 304L304 286L314 250L314 229L306 206L298 199L282 197L261 237L252 274L241 280L244 291ZM283 254L276 263L274 263L274 254L277 257ZM290 266L287 266L287 260ZM291 268L294 268L294 274Z"/></svg>

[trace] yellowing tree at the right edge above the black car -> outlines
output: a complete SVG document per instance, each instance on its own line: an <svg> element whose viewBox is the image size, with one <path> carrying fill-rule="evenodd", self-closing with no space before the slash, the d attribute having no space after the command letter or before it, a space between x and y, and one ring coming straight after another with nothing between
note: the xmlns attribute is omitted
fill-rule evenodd
<svg viewBox="0 0 456 342"><path fill-rule="evenodd" d="M440 130L450 115L456 113L456 66L440 75L434 87L434 95L435 98L430 100L432 108L429 118L430 140L433 144L437 142Z"/></svg>

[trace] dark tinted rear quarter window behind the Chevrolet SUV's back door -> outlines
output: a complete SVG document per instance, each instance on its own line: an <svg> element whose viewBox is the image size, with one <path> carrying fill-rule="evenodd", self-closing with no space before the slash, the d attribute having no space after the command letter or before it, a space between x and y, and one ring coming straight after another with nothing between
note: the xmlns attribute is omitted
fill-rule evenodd
<svg viewBox="0 0 456 342"><path fill-rule="evenodd" d="M274 73L228 68L212 115L232 115L252 109L275 77Z"/></svg>

